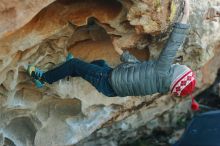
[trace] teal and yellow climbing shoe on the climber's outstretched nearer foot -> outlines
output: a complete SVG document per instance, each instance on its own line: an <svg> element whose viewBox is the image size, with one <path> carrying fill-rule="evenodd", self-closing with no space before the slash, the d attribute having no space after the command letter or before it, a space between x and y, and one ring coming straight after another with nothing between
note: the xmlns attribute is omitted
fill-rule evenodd
<svg viewBox="0 0 220 146"><path fill-rule="evenodd" d="M33 82L37 88L42 88L44 86L44 81L42 79L42 75L44 72L42 70L33 65L28 65L27 72L29 76L31 76L31 78L33 79Z"/></svg>

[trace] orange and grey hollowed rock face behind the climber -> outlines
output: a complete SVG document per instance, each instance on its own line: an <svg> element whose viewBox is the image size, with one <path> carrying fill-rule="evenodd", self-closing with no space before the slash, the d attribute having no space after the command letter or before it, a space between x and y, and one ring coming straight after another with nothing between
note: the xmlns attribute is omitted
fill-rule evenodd
<svg viewBox="0 0 220 146"><path fill-rule="evenodd" d="M203 20L207 3L191 0L190 34L176 62L197 73L198 94L220 67L220 23ZM0 2L0 143L17 146L119 145L155 128L175 127L189 99L171 95L105 97L81 78L37 89L27 64L43 70L65 61L67 52L85 61L120 63L112 37L140 60L156 59L179 0L58 0ZM199 3L199 5L198 5Z"/></svg>

